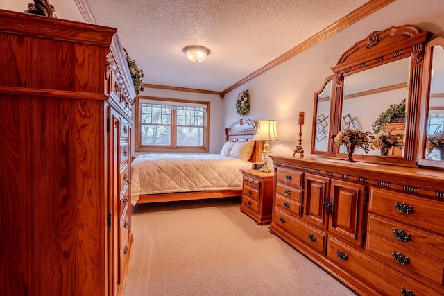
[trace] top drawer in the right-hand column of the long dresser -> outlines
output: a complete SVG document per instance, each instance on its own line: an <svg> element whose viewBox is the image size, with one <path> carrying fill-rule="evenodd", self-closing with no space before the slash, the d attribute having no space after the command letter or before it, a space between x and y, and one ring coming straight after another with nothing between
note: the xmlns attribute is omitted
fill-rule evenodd
<svg viewBox="0 0 444 296"><path fill-rule="evenodd" d="M368 210L430 232L444 234L444 202L372 187Z"/></svg>

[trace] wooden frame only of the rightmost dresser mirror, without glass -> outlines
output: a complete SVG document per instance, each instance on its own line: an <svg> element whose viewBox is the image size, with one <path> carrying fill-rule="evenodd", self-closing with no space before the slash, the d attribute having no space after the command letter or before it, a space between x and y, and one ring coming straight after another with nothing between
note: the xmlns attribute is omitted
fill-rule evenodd
<svg viewBox="0 0 444 296"><path fill-rule="evenodd" d="M441 68L444 68L443 64L436 64L436 60L434 62L434 49L441 48L442 51L444 51L444 38L438 37L435 38L427 43L427 46L425 48L425 61L424 61L424 84L422 87L422 98L421 98L421 117L420 117L420 141L418 146L418 164L422 166L432 166L436 168L444 168L444 159L441 158L441 160L434 160L427 158L426 151L427 151L427 139L429 137L429 111L432 110L431 104L430 104L430 98L432 98L433 94L431 94L432 90L432 79L435 79L435 82L438 82L438 84L443 85L444 81L439 80L436 81L436 72L435 76L433 76L433 71L437 70L436 68L441 66ZM443 53L441 53L443 54ZM442 62L442 60L441 60ZM442 72L443 70L441 70ZM442 77L441 77L442 78ZM435 94L437 95L437 94ZM441 102L443 101L444 93L438 94L441 97ZM439 109L443 109L444 106L442 106ZM442 111L441 111L442 112Z"/></svg>

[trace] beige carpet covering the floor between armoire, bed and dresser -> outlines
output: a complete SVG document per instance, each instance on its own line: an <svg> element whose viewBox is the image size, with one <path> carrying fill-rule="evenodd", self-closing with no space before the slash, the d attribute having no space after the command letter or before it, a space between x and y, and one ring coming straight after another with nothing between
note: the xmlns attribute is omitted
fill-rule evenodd
<svg viewBox="0 0 444 296"><path fill-rule="evenodd" d="M355 295L224 198L133 207L125 296Z"/></svg>

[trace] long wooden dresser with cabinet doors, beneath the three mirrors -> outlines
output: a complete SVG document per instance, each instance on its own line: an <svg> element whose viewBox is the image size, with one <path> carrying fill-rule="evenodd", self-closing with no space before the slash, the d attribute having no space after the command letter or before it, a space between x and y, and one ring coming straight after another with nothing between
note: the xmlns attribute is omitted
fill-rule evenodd
<svg viewBox="0 0 444 296"><path fill-rule="evenodd" d="M359 295L444 295L444 172L272 159L272 233Z"/></svg>

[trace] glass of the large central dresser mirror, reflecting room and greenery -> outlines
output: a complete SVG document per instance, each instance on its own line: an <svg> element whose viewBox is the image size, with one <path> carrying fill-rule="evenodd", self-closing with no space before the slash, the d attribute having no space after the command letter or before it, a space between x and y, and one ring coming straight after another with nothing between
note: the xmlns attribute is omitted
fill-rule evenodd
<svg viewBox="0 0 444 296"><path fill-rule="evenodd" d="M344 78L341 130L373 132L376 139L368 155L403 155L409 67L410 58L403 58ZM399 111L404 115L400 119L395 116ZM340 146L339 152L345 153L346 147ZM355 153L364 151L358 148Z"/></svg>

